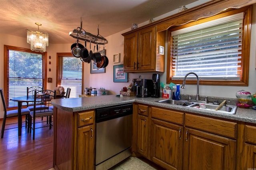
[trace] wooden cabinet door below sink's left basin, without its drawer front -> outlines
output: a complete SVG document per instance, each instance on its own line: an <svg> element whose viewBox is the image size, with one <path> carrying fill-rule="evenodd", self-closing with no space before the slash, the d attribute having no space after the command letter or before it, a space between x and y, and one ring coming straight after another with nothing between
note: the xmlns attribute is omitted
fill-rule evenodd
<svg viewBox="0 0 256 170"><path fill-rule="evenodd" d="M151 119L150 157L168 170L182 170L183 127Z"/></svg>

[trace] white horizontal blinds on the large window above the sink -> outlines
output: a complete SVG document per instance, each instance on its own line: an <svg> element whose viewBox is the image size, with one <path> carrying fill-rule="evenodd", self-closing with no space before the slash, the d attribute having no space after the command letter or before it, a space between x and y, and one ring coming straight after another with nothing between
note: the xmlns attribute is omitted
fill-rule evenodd
<svg viewBox="0 0 256 170"><path fill-rule="evenodd" d="M240 80L243 13L172 32L172 79Z"/></svg>

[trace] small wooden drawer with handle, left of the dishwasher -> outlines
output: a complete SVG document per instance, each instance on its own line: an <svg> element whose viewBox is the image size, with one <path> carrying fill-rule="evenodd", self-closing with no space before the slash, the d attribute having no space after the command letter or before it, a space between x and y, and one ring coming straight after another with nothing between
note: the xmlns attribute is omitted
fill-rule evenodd
<svg viewBox="0 0 256 170"><path fill-rule="evenodd" d="M78 113L78 127L94 123L94 110Z"/></svg>

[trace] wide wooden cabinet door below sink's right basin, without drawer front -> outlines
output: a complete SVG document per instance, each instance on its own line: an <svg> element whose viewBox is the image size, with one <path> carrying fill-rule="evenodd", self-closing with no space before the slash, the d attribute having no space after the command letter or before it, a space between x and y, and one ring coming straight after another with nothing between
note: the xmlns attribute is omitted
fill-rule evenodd
<svg viewBox="0 0 256 170"><path fill-rule="evenodd" d="M184 170L234 170L236 141L186 128Z"/></svg>

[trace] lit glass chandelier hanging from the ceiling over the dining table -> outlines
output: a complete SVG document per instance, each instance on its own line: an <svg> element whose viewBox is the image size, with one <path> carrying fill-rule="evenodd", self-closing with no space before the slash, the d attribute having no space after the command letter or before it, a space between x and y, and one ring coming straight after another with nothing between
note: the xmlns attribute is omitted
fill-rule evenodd
<svg viewBox="0 0 256 170"><path fill-rule="evenodd" d="M30 49L32 51L40 51L41 53L45 52L45 47L49 45L48 42L48 33L44 31L39 31L39 26L41 23L36 22L38 29L26 29L27 31L27 43L29 43Z"/></svg>

